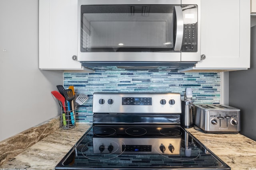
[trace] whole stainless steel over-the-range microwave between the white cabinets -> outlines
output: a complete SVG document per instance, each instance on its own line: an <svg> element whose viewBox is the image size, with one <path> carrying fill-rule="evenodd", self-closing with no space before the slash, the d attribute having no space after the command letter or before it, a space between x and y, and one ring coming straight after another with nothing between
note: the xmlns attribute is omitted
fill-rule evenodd
<svg viewBox="0 0 256 170"><path fill-rule="evenodd" d="M78 0L78 61L200 61L200 0Z"/></svg>

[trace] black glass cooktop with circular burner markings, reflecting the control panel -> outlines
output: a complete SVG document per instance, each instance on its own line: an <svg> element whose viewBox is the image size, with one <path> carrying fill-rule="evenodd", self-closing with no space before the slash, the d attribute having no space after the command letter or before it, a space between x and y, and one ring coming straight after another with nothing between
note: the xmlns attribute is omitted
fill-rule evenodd
<svg viewBox="0 0 256 170"><path fill-rule="evenodd" d="M122 129L124 130L122 131ZM102 133L105 133L107 138L104 138ZM102 141L98 141L99 139ZM118 142L112 142L114 147L108 146L104 150L101 143L104 143L105 139L110 141L126 139L129 142L134 142L134 145L122 141L120 149L115 150L114 143ZM160 143L157 143L156 139L159 139ZM169 146L164 143L166 147L163 149L161 140L167 140ZM136 144L137 141L142 145ZM149 141L152 141L153 144L151 145ZM100 149L103 151L99 151ZM98 153L95 153L95 150ZM180 126L102 127L94 125L88 129L55 169L230 170L230 167Z"/></svg>

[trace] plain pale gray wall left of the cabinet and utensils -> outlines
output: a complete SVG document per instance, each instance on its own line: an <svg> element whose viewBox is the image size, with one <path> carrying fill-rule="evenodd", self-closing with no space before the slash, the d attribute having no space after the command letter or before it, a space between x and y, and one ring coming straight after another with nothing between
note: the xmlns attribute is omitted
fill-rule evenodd
<svg viewBox="0 0 256 170"><path fill-rule="evenodd" d="M62 83L38 69L38 0L0 0L0 141L58 115Z"/></svg>

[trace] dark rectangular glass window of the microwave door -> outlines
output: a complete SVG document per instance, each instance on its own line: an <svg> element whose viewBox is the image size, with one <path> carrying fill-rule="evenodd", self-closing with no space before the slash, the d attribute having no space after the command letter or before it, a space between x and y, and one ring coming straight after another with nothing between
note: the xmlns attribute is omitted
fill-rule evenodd
<svg viewBox="0 0 256 170"><path fill-rule="evenodd" d="M82 5L80 51L172 52L173 12L174 5Z"/></svg>

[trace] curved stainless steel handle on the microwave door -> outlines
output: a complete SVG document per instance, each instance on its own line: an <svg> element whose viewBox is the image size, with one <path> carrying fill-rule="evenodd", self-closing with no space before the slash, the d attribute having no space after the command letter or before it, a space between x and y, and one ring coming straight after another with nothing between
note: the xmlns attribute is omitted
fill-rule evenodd
<svg viewBox="0 0 256 170"><path fill-rule="evenodd" d="M174 6L174 12L176 15L176 39L174 45L174 51L181 51L182 39L183 39L183 14L181 6Z"/></svg>

